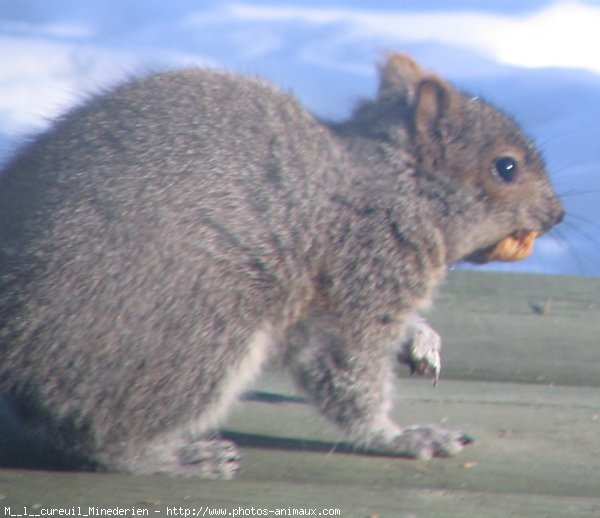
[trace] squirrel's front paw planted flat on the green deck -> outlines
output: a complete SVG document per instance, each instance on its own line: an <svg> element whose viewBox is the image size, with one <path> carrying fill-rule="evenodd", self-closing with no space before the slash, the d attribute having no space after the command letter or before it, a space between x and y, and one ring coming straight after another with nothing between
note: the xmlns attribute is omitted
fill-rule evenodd
<svg viewBox="0 0 600 518"><path fill-rule="evenodd" d="M428 460L452 457L472 442L473 439L462 432L435 426L412 426L402 429L390 446L395 455Z"/></svg>

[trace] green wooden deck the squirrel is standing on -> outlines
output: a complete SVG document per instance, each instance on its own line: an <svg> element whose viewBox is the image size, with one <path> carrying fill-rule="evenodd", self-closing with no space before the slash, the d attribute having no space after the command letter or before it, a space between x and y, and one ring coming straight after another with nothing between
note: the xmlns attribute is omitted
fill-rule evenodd
<svg viewBox="0 0 600 518"><path fill-rule="evenodd" d="M440 384L403 376L395 413L403 424L441 423L473 436L454 459L348 452L285 374L273 372L257 383L262 397L242 402L227 422L242 445L239 479L4 469L0 512L600 516L600 279L454 272L429 320L444 336Z"/></svg>

